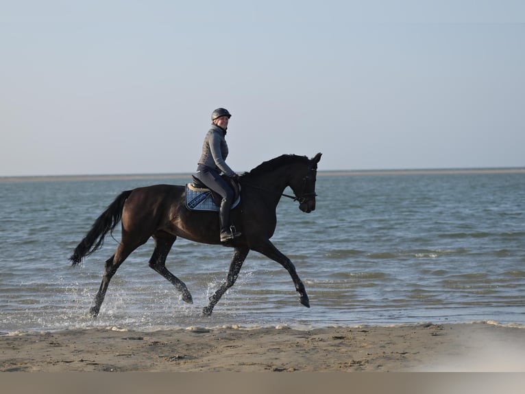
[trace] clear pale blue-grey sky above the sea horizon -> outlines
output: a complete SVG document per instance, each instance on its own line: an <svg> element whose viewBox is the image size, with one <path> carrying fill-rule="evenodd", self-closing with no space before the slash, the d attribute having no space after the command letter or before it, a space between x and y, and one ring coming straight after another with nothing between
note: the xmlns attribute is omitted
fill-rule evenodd
<svg viewBox="0 0 525 394"><path fill-rule="evenodd" d="M0 0L0 176L525 166L525 1Z"/></svg>

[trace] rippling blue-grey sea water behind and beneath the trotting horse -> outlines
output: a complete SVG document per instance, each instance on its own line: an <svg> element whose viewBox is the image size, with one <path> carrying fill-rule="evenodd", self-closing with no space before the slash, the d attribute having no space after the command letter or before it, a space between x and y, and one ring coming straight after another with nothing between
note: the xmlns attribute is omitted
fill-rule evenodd
<svg viewBox="0 0 525 394"><path fill-rule="evenodd" d="M168 268L188 305L148 267L153 242L114 276L98 318L88 315L103 262L119 240L71 268L69 256L125 189L189 178L25 179L0 182L0 333L86 327L400 325L496 321L525 325L525 172L319 172L317 209L282 198L272 241L295 264L311 308L286 270L255 252L210 317L231 248L178 239Z"/></svg>

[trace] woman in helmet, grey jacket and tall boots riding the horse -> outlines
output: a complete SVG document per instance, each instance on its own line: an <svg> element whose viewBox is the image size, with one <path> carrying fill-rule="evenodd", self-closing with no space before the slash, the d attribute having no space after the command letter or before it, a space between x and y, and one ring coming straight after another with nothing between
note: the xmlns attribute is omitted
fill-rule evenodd
<svg viewBox="0 0 525 394"><path fill-rule="evenodd" d="M221 228L221 242L229 242L241 233L230 226L230 208L232 207L234 192L221 178L220 173L234 179L239 178L225 162L228 157L228 144L226 143L226 129L232 115L225 108L217 108L212 113L212 127L208 130L202 145L202 156L197 164L195 176L207 187L221 195L219 210L219 224Z"/></svg>

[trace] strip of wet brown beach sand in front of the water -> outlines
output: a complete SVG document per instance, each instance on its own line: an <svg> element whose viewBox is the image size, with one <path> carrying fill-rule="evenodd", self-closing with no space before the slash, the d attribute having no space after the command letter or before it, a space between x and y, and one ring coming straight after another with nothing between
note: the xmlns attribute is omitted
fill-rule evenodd
<svg viewBox="0 0 525 394"><path fill-rule="evenodd" d="M489 323L395 327L117 327L0 336L0 371L525 371L525 329Z"/></svg>

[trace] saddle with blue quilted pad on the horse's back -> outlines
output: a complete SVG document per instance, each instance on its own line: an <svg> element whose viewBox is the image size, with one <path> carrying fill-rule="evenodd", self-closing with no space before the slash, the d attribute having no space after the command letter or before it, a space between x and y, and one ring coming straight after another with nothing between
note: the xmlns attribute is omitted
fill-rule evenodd
<svg viewBox="0 0 525 394"><path fill-rule="evenodd" d="M222 175L222 178L234 191L234 202L231 208L234 209L241 202L241 185L229 176ZM193 211L219 212L222 200L221 195L206 187L204 183L193 175L192 181L192 183L186 184L186 207Z"/></svg>

